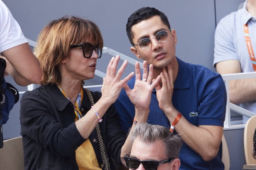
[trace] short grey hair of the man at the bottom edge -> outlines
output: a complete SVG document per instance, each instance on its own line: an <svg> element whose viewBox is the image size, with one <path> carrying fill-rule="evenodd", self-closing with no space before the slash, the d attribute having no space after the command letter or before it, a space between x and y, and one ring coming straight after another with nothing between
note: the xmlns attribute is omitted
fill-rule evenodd
<svg viewBox="0 0 256 170"><path fill-rule="evenodd" d="M173 135L169 129L159 125L151 125L148 123L137 123L131 134L131 139L136 138L146 143L162 141L168 158L178 158L183 141L178 135Z"/></svg>

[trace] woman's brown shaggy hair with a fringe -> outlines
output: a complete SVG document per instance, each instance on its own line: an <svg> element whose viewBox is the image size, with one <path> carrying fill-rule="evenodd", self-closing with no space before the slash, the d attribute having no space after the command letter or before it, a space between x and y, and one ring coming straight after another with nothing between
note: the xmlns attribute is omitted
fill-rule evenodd
<svg viewBox="0 0 256 170"><path fill-rule="evenodd" d="M65 16L53 20L39 33L34 54L38 57L43 76L41 84L60 83L58 64L69 54L70 46L86 43L103 47L102 34L98 26L89 20Z"/></svg>

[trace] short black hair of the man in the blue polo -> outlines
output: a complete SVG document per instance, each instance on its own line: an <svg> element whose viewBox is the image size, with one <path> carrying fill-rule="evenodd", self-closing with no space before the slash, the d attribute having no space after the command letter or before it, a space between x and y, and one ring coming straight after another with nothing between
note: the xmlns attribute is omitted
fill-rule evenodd
<svg viewBox="0 0 256 170"><path fill-rule="evenodd" d="M163 12L159 11L154 7L142 7L130 15L126 24L126 33L132 45L134 45L134 43L132 42L132 39L134 37L132 33L132 26L155 15L158 15L161 18L162 22L168 26L168 29L171 28L168 18Z"/></svg>

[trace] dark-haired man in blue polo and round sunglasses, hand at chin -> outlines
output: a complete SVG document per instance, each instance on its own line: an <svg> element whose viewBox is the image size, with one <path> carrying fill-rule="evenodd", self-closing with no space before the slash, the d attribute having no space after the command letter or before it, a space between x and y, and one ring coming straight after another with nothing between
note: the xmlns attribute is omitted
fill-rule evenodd
<svg viewBox="0 0 256 170"><path fill-rule="evenodd" d="M200 65L181 61L175 55L177 37L168 18L155 8L134 12L126 25L131 51L154 67L161 81L151 94L147 123L170 128L184 141L180 170L223 170L222 134L226 112L226 88L222 77ZM144 76L144 74L142 74ZM146 80L142 76L142 80ZM136 78L128 82L132 89ZM146 80L147 81L147 80ZM126 87L126 91L129 89ZM115 103L121 126L128 132L135 109L122 90ZM136 105L135 105L136 107ZM174 129L175 128L175 129Z"/></svg>

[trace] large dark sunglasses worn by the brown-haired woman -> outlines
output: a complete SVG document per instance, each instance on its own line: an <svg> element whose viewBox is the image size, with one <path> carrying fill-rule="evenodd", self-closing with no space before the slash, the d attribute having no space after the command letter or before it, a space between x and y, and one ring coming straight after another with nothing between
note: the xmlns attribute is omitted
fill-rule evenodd
<svg viewBox="0 0 256 170"><path fill-rule="evenodd" d="M97 46L93 46L91 43L80 43L76 45L71 45L70 48L82 47L83 49L83 57L90 58L95 51L98 54L98 58L102 56L102 48L98 48Z"/></svg>

